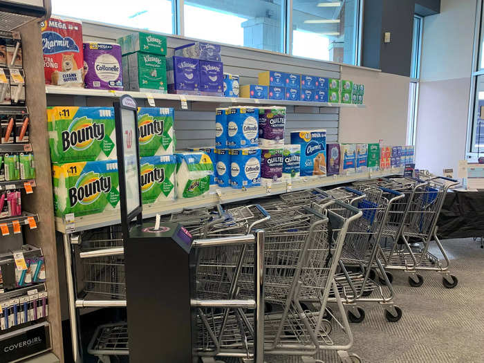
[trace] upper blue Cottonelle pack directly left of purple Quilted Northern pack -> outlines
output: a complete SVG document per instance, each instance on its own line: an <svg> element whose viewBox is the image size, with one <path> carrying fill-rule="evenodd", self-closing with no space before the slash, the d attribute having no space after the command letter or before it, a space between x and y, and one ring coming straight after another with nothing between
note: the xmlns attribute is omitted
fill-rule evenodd
<svg viewBox="0 0 484 363"><path fill-rule="evenodd" d="M227 115L227 141L229 149L259 146L259 109L230 107Z"/></svg>

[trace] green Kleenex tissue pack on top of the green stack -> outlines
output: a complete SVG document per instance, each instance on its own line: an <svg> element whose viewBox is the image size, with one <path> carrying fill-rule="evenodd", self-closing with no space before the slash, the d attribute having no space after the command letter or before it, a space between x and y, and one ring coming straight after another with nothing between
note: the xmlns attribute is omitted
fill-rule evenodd
<svg viewBox="0 0 484 363"><path fill-rule="evenodd" d="M133 32L133 34L118 38L122 55L144 52L156 55L167 55L167 38L147 32Z"/></svg>

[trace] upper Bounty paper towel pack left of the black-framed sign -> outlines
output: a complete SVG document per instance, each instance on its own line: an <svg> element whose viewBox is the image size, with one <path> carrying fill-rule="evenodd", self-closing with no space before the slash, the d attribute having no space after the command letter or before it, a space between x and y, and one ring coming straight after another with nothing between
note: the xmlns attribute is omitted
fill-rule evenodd
<svg viewBox="0 0 484 363"><path fill-rule="evenodd" d="M112 107L48 107L47 129L53 162L116 158Z"/></svg>

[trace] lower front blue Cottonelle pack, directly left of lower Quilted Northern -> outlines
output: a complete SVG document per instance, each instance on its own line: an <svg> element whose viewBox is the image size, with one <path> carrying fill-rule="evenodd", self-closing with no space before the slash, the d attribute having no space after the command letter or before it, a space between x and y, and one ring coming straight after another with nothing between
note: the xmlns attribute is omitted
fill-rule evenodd
<svg viewBox="0 0 484 363"><path fill-rule="evenodd" d="M241 189L261 185L261 149L232 149L230 153L230 186Z"/></svg>

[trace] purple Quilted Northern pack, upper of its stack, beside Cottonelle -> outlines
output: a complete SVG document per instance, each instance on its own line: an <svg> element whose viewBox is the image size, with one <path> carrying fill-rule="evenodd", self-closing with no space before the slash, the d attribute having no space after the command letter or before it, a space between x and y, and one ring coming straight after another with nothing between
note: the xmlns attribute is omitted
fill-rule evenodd
<svg viewBox="0 0 484 363"><path fill-rule="evenodd" d="M259 147L284 145L286 107L259 107Z"/></svg>

